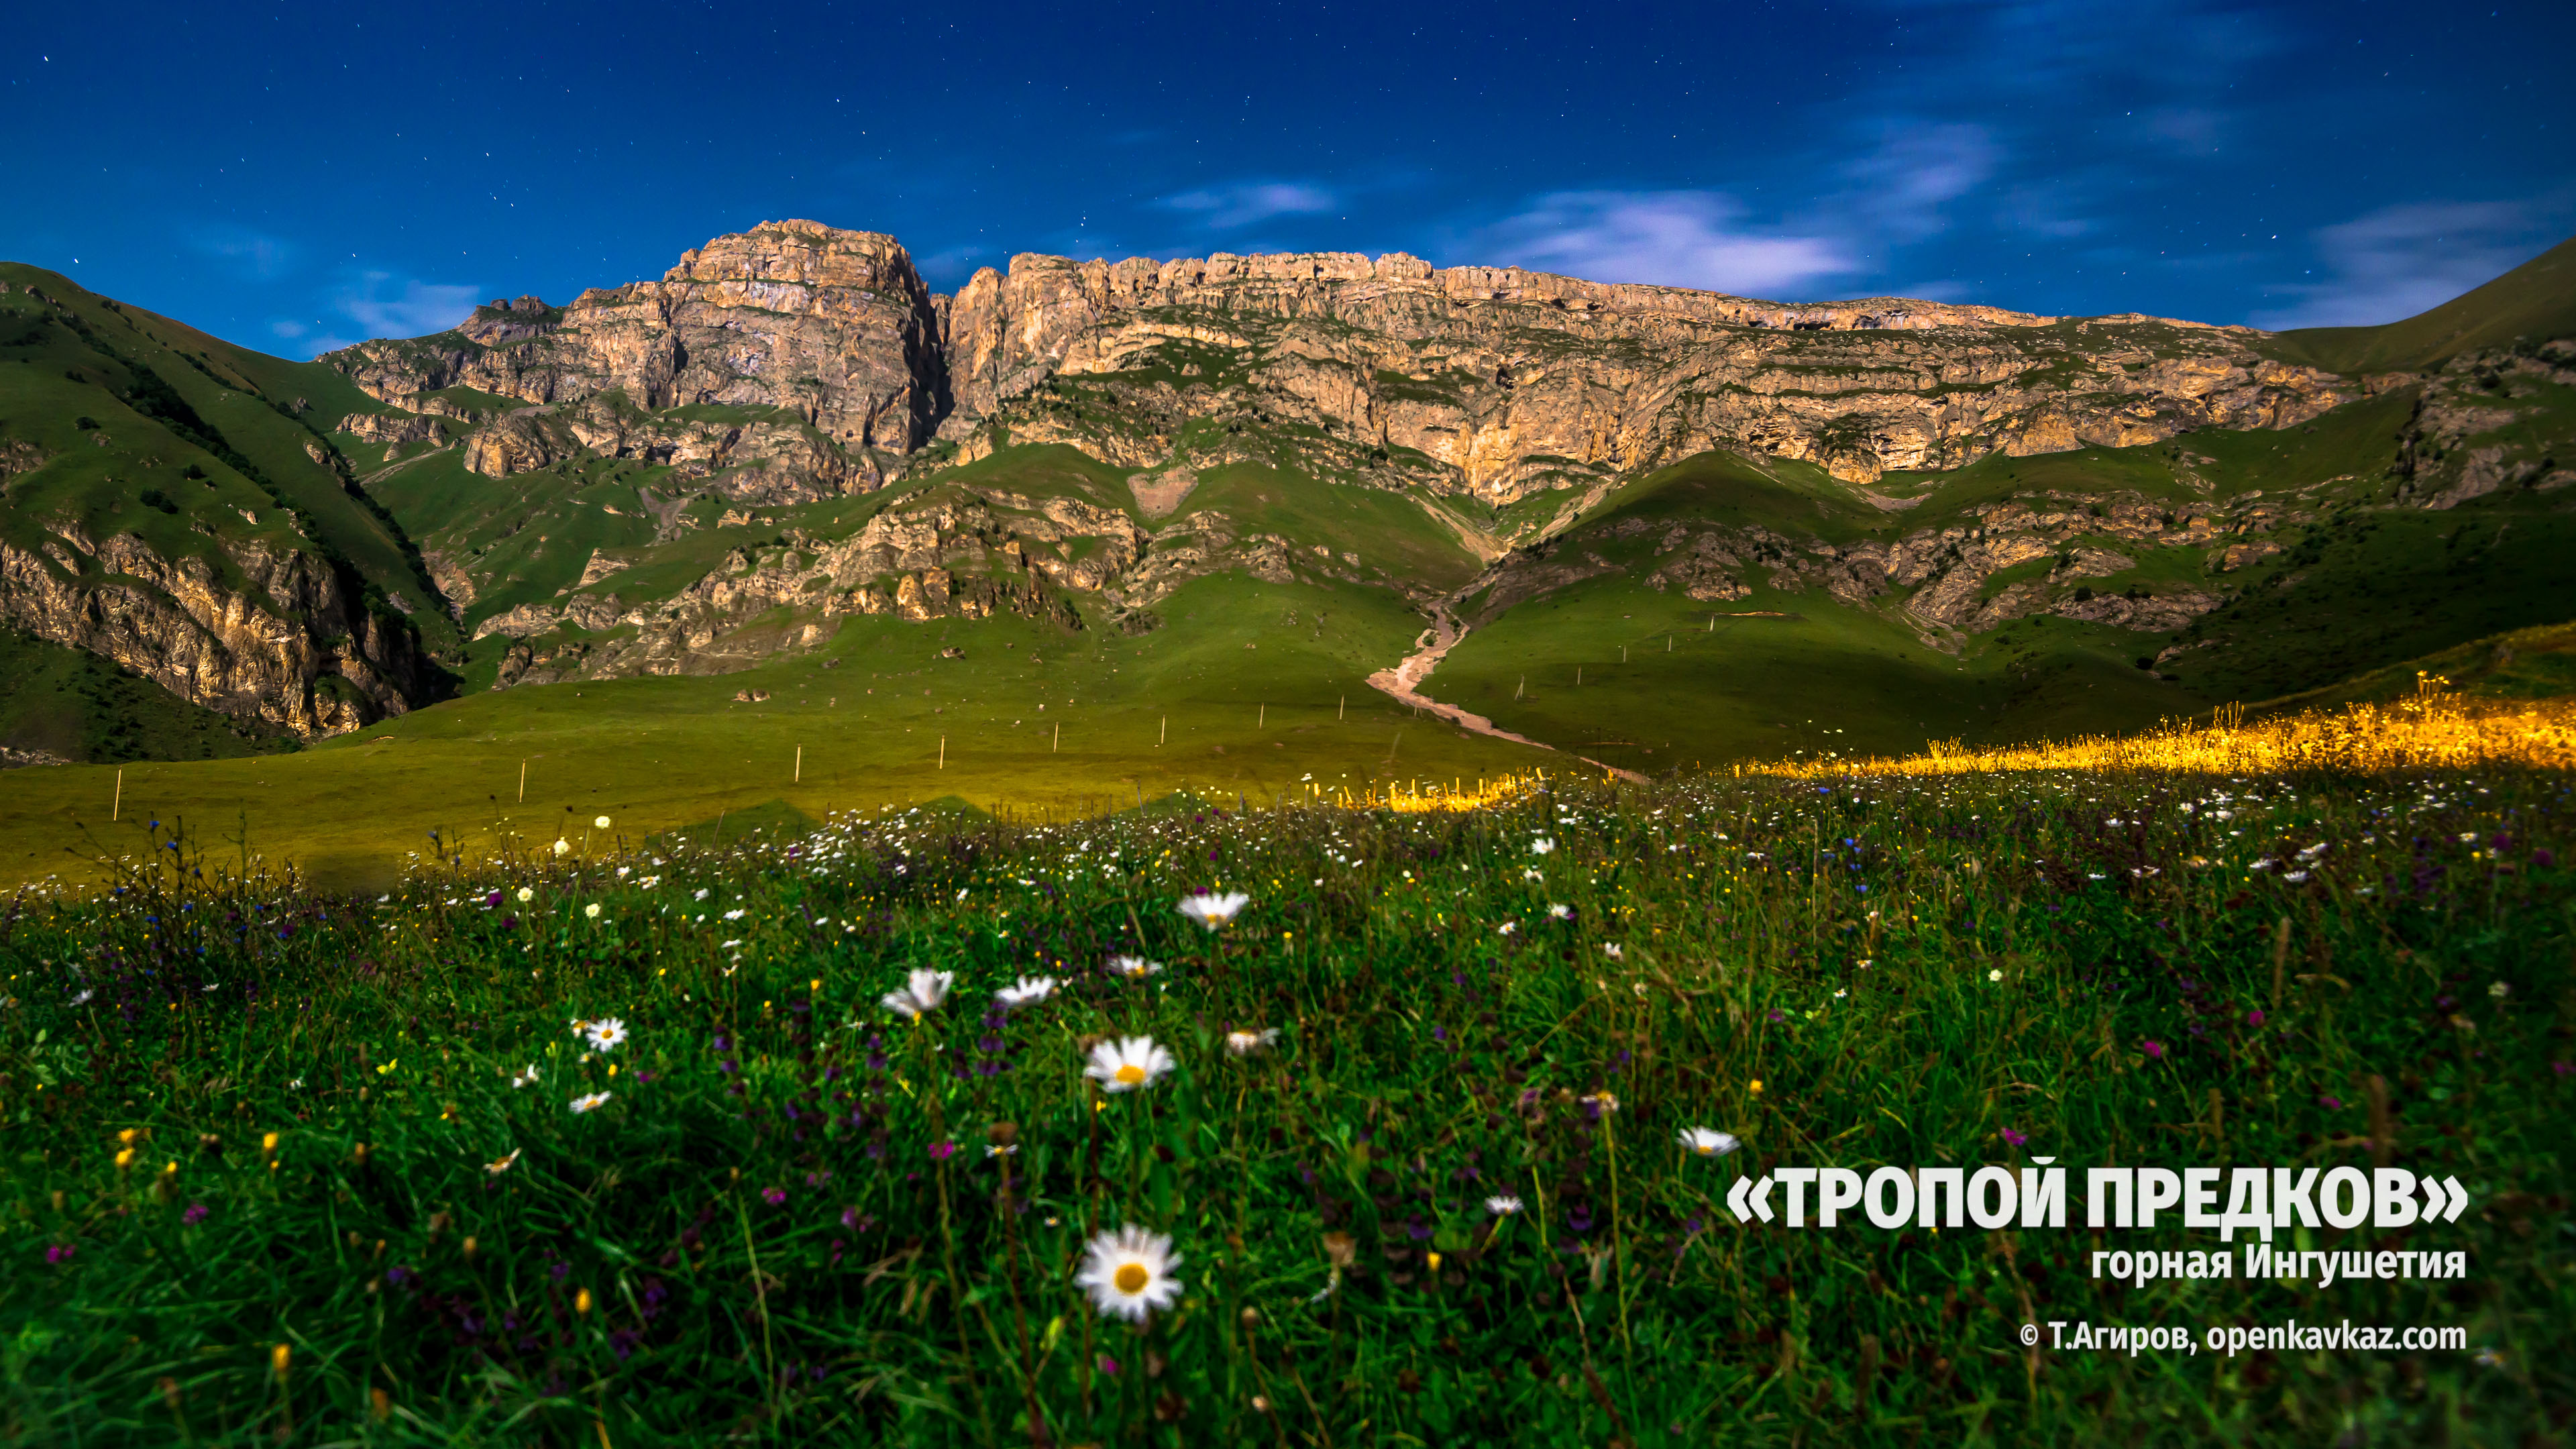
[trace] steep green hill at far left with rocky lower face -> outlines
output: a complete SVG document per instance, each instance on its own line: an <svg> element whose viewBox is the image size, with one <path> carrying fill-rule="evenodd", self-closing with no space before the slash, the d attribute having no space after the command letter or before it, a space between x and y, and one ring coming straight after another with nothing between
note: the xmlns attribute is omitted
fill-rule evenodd
<svg viewBox="0 0 2576 1449"><path fill-rule="evenodd" d="M456 629L317 431L366 407L330 369L0 266L0 619L252 732L435 699Z"/></svg>

